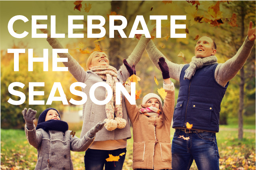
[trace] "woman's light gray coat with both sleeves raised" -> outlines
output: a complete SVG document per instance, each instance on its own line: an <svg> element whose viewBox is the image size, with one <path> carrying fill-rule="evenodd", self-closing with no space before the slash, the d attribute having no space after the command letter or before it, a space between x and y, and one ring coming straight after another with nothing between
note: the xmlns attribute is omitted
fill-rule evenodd
<svg viewBox="0 0 256 170"><path fill-rule="evenodd" d="M48 43L53 47L53 49L63 49L63 46L59 43L58 39L56 38L48 38ZM140 61L143 52L146 49L146 45L150 39L141 38L139 43L136 45L134 51L132 54L128 57L127 62L132 66L134 64L138 64ZM87 86L85 88L82 88L82 92L84 92L87 95L87 102L83 104L83 127L81 131L81 137L87 133L98 121L104 121L106 119L106 110L105 105L97 105L93 103L89 97L89 90L93 84L96 82L104 82L100 76L95 74L94 72L88 70L85 71L82 66L69 54L69 53L59 53L59 57L68 58L68 62L63 62L63 64L69 68L69 72L74 76L74 78L78 82L83 82ZM122 72L122 74L121 74ZM120 82L126 81L126 79L129 77L129 73L122 64L120 69L117 73L117 78ZM95 91L95 98L97 100L104 100L106 94L106 89L104 87L98 87ZM123 129L115 129L113 131L107 131L105 128L101 129L96 133L95 141L107 141L107 140L118 140L118 139L130 139L131 138L131 132L130 132L130 126L126 111L126 106L124 102L124 96L122 95L122 112L123 112L123 118L126 119L126 127Z"/></svg>

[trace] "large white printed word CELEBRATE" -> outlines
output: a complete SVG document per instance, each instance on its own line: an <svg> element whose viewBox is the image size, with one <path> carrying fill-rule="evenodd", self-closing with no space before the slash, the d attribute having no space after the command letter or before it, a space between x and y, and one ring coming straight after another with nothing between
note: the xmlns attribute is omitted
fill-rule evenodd
<svg viewBox="0 0 256 170"><path fill-rule="evenodd" d="M28 18L22 15L12 17L8 22L8 31L15 38L24 38L28 35L27 31L16 33L13 29L16 20L28 21ZM47 29L47 24L37 24L37 20L47 20L47 16L32 16L32 38L47 38L46 33L36 33L37 29ZM73 24L73 20L84 20L84 16L68 16L68 38L84 38L83 33L73 33L73 29L83 29L83 24ZM99 20L99 24L93 24L93 20ZM114 20L121 20L121 25L114 25ZM167 20L167 16L150 16L150 20L156 20L156 37L161 38L161 20ZM175 33L175 29L185 29L186 24L175 24L175 20L186 20L186 16L170 16L170 37L186 38L185 33ZM106 20L103 16L87 16L87 38L101 38L106 35L106 29L103 27ZM139 23L141 30L137 30ZM109 16L109 37L114 38L114 30L117 30L122 38L127 38L123 29L127 26L127 20L124 16ZM100 33L93 33L93 29L100 29ZM151 38L150 31L146 25L143 16L136 16L129 38L134 38L135 34L145 34L146 38ZM64 33L56 33L56 18L51 16L51 37L65 38Z"/></svg>

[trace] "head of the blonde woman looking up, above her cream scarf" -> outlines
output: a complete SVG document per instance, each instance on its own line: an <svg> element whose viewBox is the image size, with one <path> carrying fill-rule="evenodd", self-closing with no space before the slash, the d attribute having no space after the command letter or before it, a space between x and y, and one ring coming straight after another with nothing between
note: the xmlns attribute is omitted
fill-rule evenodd
<svg viewBox="0 0 256 170"><path fill-rule="evenodd" d="M90 70L93 66L105 66L109 65L108 57L104 52L97 52L93 55L91 65L89 66Z"/></svg>

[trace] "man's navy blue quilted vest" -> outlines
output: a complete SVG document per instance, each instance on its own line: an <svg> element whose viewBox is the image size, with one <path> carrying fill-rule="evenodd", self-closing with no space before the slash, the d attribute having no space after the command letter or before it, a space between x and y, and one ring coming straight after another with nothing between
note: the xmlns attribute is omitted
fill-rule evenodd
<svg viewBox="0 0 256 170"><path fill-rule="evenodd" d="M189 64L182 68L173 128L185 128L188 122L193 124L192 129L219 132L221 101L229 82L225 87L216 82L214 73L217 65L197 69L190 80L184 80Z"/></svg>

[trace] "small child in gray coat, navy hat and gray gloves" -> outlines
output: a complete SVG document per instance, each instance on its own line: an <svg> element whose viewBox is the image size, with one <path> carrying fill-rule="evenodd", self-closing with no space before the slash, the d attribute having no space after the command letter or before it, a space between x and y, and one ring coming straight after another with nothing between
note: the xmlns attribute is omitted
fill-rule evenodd
<svg viewBox="0 0 256 170"><path fill-rule="evenodd" d="M33 123L36 111L25 108L22 114L26 121L25 132L28 142L37 149L35 170L73 170L70 150L87 150L93 143L96 132L102 129L105 123L97 123L79 139L71 135L67 122L60 120L59 112L54 108L45 109L39 115L36 128Z"/></svg>

